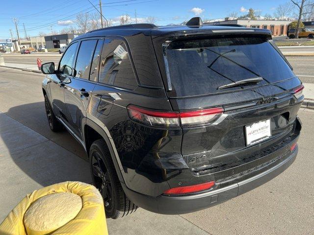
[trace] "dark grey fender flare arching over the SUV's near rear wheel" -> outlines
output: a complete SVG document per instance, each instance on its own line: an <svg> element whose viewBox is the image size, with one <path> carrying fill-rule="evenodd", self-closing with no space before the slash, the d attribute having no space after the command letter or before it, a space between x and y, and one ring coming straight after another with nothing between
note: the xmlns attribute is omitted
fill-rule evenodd
<svg viewBox="0 0 314 235"><path fill-rule="evenodd" d="M103 123L102 123L103 124ZM116 172L117 172L117 175L119 177L119 180L121 183L125 184L125 181L124 181L124 177L123 177L123 167L122 167L122 164L121 164L121 161L120 161L120 158L119 158L119 155L118 155L118 152L117 152L117 149L114 145L114 142L110 136L110 133L108 131L108 129L105 127L107 133L105 132L105 130L100 127L97 123L95 123L94 121L92 121L91 119L89 118L83 118L82 119L82 133L83 133L83 138L84 138L84 143L86 145L86 140L85 140L85 125L87 126L90 126L91 128L93 128L96 132L98 132L98 134L100 134L103 139L105 140L105 143L107 144L108 146L108 149L110 151L110 155L111 155L111 158L112 158L112 161L113 161L113 164L114 164L114 167L116 169ZM104 124L103 124L104 125ZM87 153L87 156L89 155L89 153ZM89 158L89 156L88 156Z"/></svg>

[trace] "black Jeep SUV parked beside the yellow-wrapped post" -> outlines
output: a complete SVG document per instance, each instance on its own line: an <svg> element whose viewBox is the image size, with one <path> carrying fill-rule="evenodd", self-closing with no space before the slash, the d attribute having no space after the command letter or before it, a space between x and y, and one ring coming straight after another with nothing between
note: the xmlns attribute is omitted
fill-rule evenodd
<svg viewBox="0 0 314 235"><path fill-rule="evenodd" d="M198 18L102 28L42 71L50 128L85 148L112 218L208 208L298 152L303 85L266 29Z"/></svg>

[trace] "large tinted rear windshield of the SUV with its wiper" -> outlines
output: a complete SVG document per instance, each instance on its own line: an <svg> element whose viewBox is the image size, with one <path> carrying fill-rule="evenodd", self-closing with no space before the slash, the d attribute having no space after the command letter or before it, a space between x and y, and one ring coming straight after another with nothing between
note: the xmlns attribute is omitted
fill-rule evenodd
<svg viewBox="0 0 314 235"><path fill-rule="evenodd" d="M168 79L177 97L241 89L217 88L248 78L262 77L260 86L294 76L276 49L260 37L175 41L166 47L165 52ZM257 85L243 87L250 86Z"/></svg>

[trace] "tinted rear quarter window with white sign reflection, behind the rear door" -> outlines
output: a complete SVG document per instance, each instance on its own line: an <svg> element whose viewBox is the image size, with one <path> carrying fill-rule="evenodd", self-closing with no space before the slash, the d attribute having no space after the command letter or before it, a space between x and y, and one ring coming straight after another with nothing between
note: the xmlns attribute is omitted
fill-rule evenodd
<svg viewBox="0 0 314 235"><path fill-rule="evenodd" d="M105 39L99 82L134 90L137 86L128 49L118 39Z"/></svg>

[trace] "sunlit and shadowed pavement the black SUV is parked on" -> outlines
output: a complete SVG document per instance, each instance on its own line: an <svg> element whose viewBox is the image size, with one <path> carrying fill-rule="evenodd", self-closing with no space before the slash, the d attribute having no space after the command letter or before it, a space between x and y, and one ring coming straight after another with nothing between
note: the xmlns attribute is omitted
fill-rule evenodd
<svg viewBox="0 0 314 235"><path fill-rule="evenodd" d="M67 180L91 182L82 147L66 131L56 134L48 127L42 79L41 74L0 68L0 221L37 188ZM107 219L109 234L313 234L314 112L302 109L299 116L298 157L267 184L194 213L160 215L141 209L125 219Z"/></svg>

